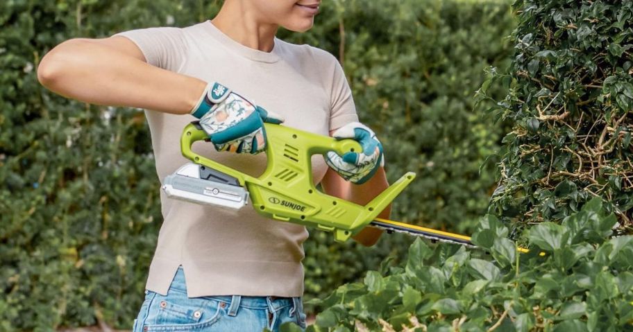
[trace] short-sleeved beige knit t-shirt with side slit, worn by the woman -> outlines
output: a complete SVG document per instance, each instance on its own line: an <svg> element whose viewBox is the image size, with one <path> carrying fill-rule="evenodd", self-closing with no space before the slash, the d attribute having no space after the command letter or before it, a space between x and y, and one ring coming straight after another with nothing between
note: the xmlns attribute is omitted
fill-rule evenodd
<svg viewBox="0 0 633 332"><path fill-rule="evenodd" d="M210 21L187 28L147 28L120 33L141 49L149 64L220 82L256 105L285 118L284 125L327 135L357 120L351 91L337 60L321 49L275 39L270 53L230 39ZM187 163L180 134L190 115L146 110L156 171L161 182ZM194 150L249 175L262 174L266 155L217 152L211 143ZM314 181L327 166L312 157ZM160 193L164 222L146 288L167 294L183 265L189 297L303 295L305 227L259 216L251 204L229 212L167 198Z"/></svg>

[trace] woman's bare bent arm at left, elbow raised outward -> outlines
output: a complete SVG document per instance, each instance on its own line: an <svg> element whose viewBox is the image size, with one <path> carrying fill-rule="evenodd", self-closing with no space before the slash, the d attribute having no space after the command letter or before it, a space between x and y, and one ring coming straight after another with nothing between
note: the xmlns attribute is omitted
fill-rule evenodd
<svg viewBox="0 0 633 332"><path fill-rule="evenodd" d="M42 58L37 79L62 96L86 103L187 114L207 83L145 62L126 37L62 42Z"/></svg>

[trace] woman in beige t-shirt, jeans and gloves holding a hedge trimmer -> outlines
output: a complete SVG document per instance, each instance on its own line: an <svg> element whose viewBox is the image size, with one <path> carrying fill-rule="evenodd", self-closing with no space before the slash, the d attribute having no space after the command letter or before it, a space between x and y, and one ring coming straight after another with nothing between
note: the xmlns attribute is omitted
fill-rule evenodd
<svg viewBox="0 0 633 332"><path fill-rule="evenodd" d="M212 141L199 152L252 175L266 165L257 155L266 144L263 122L357 139L362 153L313 157L312 171L326 193L364 204L388 186L382 146L357 122L340 65L325 51L275 37L279 26L310 29L319 4L226 0L214 19L186 28L69 40L42 59L38 78L69 98L145 109L161 180L187 161L178 142L195 118ZM164 222L134 331L305 328L305 227L247 208L231 213L164 195L161 204ZM368 228L355 240L372 245L379 236Z"/></svg>

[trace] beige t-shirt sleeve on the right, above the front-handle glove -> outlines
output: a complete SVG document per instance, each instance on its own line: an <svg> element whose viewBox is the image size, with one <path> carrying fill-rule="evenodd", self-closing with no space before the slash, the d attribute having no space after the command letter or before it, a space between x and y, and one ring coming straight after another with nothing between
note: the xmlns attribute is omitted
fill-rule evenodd
<svg viewBox="0 0 633 332"><path fill-rule="evenodd" d="M352 98L352 90L343 68L333 56L332 60L334 60L335 66L330 94L330 130L337 130L348 123L358 121L358 115Z"/></svg>

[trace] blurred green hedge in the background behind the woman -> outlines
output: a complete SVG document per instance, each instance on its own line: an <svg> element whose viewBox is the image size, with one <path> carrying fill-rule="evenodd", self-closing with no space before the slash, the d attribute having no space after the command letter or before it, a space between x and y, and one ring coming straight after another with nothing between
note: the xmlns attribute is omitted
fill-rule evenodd
<svg viewBox="0 0 633 332"><path fill-rule="evenodd" d="M1 331L130 326L161 222L142 112L52 94L36 79L42 55L71 37L187 26L219 6L0 1ZM419 174L394 218L469 231L495 180L492 164L479 166L503 131L471 96L485 67L505 67L513 24L503 1L326 1L313 30L280 37L344 58L360 117L385 142L389 178ZM396 259L384 265L394 265L410 242L385 236L368 249L312 231L306 297L357 280L389 254Z"/></svg>

